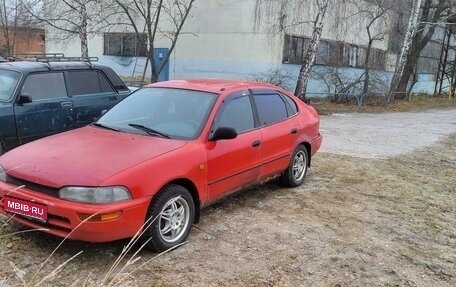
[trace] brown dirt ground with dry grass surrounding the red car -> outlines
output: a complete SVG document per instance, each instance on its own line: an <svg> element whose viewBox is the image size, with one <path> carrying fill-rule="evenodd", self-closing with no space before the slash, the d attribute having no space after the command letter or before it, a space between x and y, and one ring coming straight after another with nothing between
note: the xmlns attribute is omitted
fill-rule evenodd
<svg viewBox="0 0 456 287"><path fill-rule="evenodd" d="M456 126L456 117L449 119ZM456 286L456 133L405 154L347 154L324 146L303 186L269 182L205 209L187 244L158 258L141 251L112 274L135 272L113 283ZM40 271L60 240L12 234L20 230L13 223L0 230L0 286L34 285L80 251L43 285L98 285L128 243L64 242Z"/></svg>

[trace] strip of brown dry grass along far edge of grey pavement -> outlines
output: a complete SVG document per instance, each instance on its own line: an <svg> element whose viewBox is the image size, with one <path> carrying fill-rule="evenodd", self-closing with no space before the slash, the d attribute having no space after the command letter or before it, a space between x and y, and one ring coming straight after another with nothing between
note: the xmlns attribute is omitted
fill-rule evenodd
<svg viewBox="0 0 456 287"><path fill-rule="evenodd" d="M456 99L448 96L429 97L417 95L408 100L395 100L387 103L385 101L366 102L362 107L358 107L354 101L348 103L335 103L328 99L311 99L313 106L320 115L333 113L384 113L384 112L415 112L437 108L454 108Z"/></svg>

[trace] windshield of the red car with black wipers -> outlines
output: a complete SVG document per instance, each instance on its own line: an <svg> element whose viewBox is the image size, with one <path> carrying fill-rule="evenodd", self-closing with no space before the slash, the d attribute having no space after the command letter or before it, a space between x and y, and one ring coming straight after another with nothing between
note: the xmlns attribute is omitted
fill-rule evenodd
<svg viewBox="0 0 456 287"><path fill-rule="evenodd" d="M216 94L172 88L143 88L114 106L95 124L163 138L198 136Z"/></svg>

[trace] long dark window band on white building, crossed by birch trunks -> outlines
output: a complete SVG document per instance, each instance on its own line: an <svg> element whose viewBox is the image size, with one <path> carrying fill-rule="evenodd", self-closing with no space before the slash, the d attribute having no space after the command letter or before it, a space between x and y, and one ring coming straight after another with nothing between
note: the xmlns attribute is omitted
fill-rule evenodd
<svg viewBox="0 0 456 287"><path fill-rule="evenodd" d="M302 64L310 45L310 38L285 35L282 62L287 64ZM344 42L320 40L317 50L316 64L333 67L364 68L367 49ZM375 70L385 70L386 52L371 49L369 67Z"/></svg>

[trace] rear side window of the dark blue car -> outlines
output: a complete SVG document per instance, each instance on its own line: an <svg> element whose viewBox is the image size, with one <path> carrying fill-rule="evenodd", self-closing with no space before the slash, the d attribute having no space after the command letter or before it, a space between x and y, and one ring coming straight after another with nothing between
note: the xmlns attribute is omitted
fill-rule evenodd
<svg viewBox="0 0 456 287"><path fill-rule="evenodd" d="M114 92L106 78L97 71L70 71L68 82L72 96Z"/></svg>

